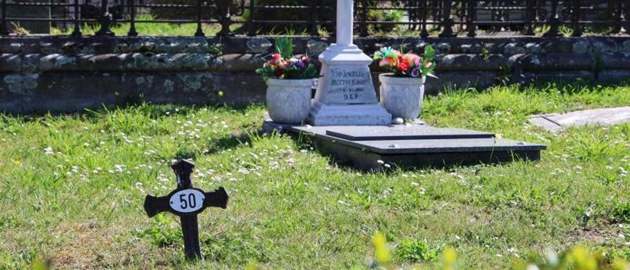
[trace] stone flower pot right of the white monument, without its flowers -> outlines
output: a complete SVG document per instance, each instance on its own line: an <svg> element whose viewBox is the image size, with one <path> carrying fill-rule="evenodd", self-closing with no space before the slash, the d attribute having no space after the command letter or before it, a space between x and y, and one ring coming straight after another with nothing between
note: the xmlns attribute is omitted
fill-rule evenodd
<svg viewBox="0 0 630 270"><path fill-rule="evenodd" d="M394 119L418 119L425 95L425 79L394 77L392 73L380 74L381 105Z"/></svg>

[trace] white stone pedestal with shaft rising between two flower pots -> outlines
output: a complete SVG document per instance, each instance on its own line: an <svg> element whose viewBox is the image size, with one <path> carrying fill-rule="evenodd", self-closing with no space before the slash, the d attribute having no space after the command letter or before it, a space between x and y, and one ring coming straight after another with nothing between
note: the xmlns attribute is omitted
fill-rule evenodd
<svg viewBox="0 0 630 270"><path fill-rule="evenodd" d="M319 55L321 78L312 100L313 126L386 126L392 117L376 100L372 58L352 43L353 0L337 0L337 43Z"/></svg>

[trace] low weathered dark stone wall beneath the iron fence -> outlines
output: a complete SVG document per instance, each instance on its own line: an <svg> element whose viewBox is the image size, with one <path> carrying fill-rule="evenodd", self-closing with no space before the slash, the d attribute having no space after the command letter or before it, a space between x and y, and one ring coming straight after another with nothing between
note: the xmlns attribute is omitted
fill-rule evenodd
<svg viewBox="0 0 630 270"><path fill-rule="evenodd" d="M326 39L296 38L316 56ZM358 38L372 54L383 46L438 50L427 92L486 88L532 79L621 81L630 78L630 37ZM0 111L78 111L129 101L264 102L253 73L273 49L268 37L0 38ZM380 71L372 66L374 76ZM374 82L377 83L376 77Z"/></svg>

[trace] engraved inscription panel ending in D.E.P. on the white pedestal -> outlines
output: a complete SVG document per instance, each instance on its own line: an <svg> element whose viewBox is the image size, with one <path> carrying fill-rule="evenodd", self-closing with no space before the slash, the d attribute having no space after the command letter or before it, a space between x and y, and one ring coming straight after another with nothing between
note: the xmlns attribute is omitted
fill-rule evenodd
<svg viewBox="0 0 630 270"><path fill-rule="evenodd" d="M328 83L329 104L376 102L370 69L367 67L331 67Z"/></svg>

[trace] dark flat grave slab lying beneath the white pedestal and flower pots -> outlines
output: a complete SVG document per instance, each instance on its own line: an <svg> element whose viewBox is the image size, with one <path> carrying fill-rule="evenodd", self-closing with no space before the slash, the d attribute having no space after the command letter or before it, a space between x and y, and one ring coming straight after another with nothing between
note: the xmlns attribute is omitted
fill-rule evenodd
<svg viewBox="0 0 630 270"><path fill-rule="evenodd" d="M359 170L386 167L451 167L513 160L539 160L542 144L496 138L490 132L440 128L420 124L398 126L287 126L280 129L311 138L318 150L338 163Z"/></svg>

